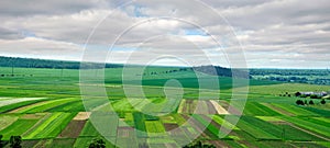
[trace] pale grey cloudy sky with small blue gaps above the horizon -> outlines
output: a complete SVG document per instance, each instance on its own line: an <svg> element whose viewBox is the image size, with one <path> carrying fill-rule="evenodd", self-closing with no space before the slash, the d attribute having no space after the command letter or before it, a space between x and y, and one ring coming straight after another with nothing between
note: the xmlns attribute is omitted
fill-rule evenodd
<svg viewBox="0 0 330 148"><path fill-rule="evenodd" d="M329 0L1 0L0 56L330 68L329 14Z"/></svg>

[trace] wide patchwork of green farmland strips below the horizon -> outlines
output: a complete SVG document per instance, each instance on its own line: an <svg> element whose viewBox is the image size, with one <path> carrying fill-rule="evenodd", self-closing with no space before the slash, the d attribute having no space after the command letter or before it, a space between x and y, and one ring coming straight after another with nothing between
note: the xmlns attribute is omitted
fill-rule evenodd
<svg viewBox="0 0 330 148"><path fill-rule="evenodd" d="M147 70L170 69L175 68ZM243 115L233 125L226 121L227 116L235 117L227 111L233 92L229 77L217 78L220 91L200 91L191 71L146 75L142 82L145 98L138 93L128 98L121 81L122 68L107 68L108 105L118 116L109 115L99 121L109 127L109 130L99 130L94 126L98 121L90 118L102 114L108 105L99 100L82 102L79 70L15 68L14 72L18 76L7 76L11 68L0 68L0 75L6 76L0 77L0 135L3 135L2 140L22 136L23 147L86 147L97 137L105 139L107 147L180 147L199 132L196 140L217 147L330 147L330 101L320 104L320 100L315 100L315 105L301 106L296 105L295 96L279 96L286 92L330 91L329 86L251 80ZM182 83L182 99L166 96L163 86L169 79ZM210 77L201 79L211 80ZM134 83L132 78L129 84ZM210 99L197 100L201 94ZM86 111L85 103L92 104L99 112ZM232 130L219 138L221 126Z"/></svg>

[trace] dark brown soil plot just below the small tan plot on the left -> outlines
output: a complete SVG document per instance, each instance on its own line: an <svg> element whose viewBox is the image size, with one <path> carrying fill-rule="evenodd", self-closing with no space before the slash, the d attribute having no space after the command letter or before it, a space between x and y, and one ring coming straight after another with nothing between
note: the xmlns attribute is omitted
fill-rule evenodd
<svg viewBox="0 0 330 148"><path fill-rule="evenodd" d="M58 138L77 138L82 130L86 121L72 121L58 135Z"/></svg>

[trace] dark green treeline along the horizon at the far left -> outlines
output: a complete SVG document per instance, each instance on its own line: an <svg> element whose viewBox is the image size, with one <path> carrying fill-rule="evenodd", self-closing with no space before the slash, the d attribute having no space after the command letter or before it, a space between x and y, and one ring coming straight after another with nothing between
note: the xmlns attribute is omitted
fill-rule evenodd
<svg viewBox="0 0 330 148"><path fill-rule="evenodd" d="M102 68L102 64L86 64L85 67ZM32 59L16 57L0 57L0 67L20 67L20 68L53 68L53 69L79 69L78 61L62 61L48 59ZM106 64L106 68L120 68L122 65Z"/></svg>

